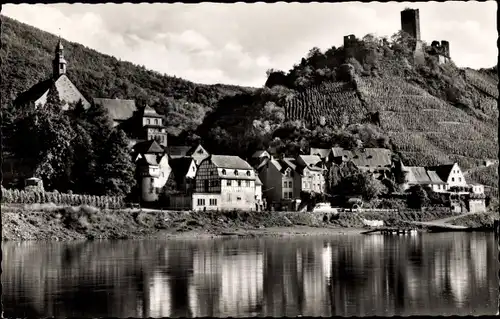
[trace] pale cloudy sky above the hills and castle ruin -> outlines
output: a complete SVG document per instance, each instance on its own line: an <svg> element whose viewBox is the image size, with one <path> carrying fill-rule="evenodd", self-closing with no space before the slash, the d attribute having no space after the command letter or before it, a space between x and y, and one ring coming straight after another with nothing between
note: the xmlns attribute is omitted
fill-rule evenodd
<svg viewBox="0 0 500 319"><path fill-rule="evenodd" d="M313 47L390 37L406 7L420 9L422 40L450 42L456 65L497 64L496 1L7 4L2 14L170 76L262 87L268 69L288 71Z"/></svg>

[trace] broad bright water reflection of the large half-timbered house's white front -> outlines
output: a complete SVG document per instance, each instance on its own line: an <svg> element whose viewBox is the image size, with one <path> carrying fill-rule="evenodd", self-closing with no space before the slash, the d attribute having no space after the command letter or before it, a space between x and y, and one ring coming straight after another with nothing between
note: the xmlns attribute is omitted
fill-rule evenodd
<svg viewBox="0 0 500 319"><path fill-rule="evenodd" d="M221 261L221 316L254 315L263 298L264 259L261 253L224 256Z"/></svg>

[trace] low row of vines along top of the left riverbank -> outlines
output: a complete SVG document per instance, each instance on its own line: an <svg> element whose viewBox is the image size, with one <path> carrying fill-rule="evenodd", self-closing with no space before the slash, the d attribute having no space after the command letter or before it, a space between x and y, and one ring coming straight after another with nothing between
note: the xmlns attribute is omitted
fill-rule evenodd
<svg viewBox="0 0 500 319"><path fill-rule="evenodd" d="M24 191L5 189L2 187L2 203L5 204L44 204L56 205L90 205L99 208L123 208L124 198L120 196L95 196L81 194L64 194L59 192Z"/></svg>

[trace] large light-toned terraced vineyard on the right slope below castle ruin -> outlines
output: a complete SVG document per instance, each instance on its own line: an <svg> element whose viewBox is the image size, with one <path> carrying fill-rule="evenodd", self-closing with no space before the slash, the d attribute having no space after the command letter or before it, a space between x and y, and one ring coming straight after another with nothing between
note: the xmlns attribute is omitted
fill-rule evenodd
<svg viewBox="0 0 500 319"><path fill-rule="evenodd" d="M477 74L476 80L480 79ZM492 89L491 83L479 81ZM468 168L497 157L498 125L494 120L481 121L398 77L359 79L358 88L367 108L380 112L382 129L408 165L458 161Z"/></svg>

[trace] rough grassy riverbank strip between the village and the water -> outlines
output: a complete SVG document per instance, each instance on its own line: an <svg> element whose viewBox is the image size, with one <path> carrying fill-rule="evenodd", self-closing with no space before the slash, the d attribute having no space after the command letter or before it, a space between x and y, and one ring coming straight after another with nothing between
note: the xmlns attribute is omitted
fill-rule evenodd
<svg viewBox="0 0 500 319"><path fill-rule="evenodd" d="M407 227L408 221L431 221L448 216L432 211L418 214L345 212L335 218L299 212L162 212L53 204L2 205L2 236L4 240L77 240L326 235L360 232L363 218L384 220L386 226ZM475 220L475 227L483 221L489 225L490 217L474 218L476 216L467 216L454 224L467 225Z"/></svg>

